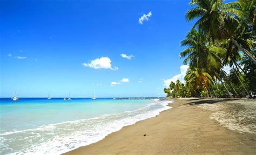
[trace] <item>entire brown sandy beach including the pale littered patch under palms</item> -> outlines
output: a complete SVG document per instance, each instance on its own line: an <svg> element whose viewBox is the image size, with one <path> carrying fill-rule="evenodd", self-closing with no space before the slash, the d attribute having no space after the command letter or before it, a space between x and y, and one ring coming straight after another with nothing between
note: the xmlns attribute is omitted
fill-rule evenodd
<svg viewBox="0 0 256 155"><path fill-rule="evenodd" d="M176 99L172 109L64 154L256 154L256 102Z"/></svg>

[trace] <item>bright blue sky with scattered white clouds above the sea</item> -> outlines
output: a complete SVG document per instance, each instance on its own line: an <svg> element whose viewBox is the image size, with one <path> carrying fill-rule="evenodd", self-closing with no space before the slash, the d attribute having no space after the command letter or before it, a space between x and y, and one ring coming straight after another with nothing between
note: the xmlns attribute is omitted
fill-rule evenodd
<svg viewBox="0 0 256 155"><path fill-rule="evenodd" d="M164 97L189 2L2 1L0 97Z"/></svg>

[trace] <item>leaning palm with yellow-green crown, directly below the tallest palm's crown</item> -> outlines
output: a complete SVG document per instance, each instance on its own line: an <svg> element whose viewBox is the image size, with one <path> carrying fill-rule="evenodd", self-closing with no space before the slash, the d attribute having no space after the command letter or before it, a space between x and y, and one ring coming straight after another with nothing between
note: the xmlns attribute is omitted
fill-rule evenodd
<svg viewBox="0 0 256 155"><path fill-rule="evenodd" d="M189 63L190 68L198 68L217 77L221 84L224 85L228 95L230 95L230 92L221 80L221 76L218 75L222 68L222 62L219 55L223 55L226 50L221 47L209 45L206 35L195 29L192 29L187 33L186 38L181 41L181 45L187 46L187 49L181 51L179 54L180 57L186 57L183 63ZM193 80L191 82L194 83Z"/></svg>

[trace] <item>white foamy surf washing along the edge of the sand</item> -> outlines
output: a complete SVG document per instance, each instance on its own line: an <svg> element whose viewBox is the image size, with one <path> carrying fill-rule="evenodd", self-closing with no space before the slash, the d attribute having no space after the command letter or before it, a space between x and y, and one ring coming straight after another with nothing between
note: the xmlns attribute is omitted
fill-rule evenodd
<svg viewBox="0 0 256 155"><path fill-rule="evenodd" d="M156 100L155 103L133 111L42 125L34 129L3 132L0 134L0 143L2 149L4 148L1 152L3 154L64 153L80 146L96 143L107 134L139 120L154 117L161 111L170 109L171 107L167 104L171 102Z"/></svg>

